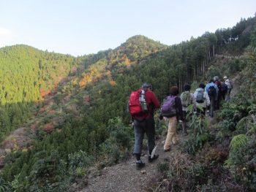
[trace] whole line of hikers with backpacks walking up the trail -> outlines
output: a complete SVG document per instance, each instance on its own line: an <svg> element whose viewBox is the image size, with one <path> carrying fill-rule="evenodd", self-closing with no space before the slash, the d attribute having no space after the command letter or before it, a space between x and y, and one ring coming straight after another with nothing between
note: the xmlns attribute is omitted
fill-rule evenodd
<svg viewBox="0 0 256 192"><path fill-rule="evenodd" d="M206 116L209 112L211 118L214 112L219 110L220 101L230 101L230 92L233 88L227 76L223 81L218 76L208 81L205 85L201 82L195 93L191 93L191 86L184 85L184 92L179 96L177 86L170 88L170 96L167 96L163 104L157 99L152 90L152 85L144 82L138 91L132 91L129 98L129 112L132 116L132 125L135 133L135 146L133 154L136 157L136 167L141 169L145 163L141 160L143 137L146 133L148 139L148 162L156 160L159 155L154 154L155 147L155 123L154 110L161 109L159 119L168 121L167 137L165 139L164 151L170 151L171 145L178 143L176 126L182 123L182 131L187 133L187 110L192 105L197 115ZM203 109L203 110L202 110Z"/></svg>

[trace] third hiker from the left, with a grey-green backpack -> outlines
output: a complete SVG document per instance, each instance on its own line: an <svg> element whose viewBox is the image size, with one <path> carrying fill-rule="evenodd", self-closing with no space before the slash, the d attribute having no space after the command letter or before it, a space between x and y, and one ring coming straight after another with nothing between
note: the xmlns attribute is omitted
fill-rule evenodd
<svg viewBox="0 0 256 192"><path fill-rule="evenodd" d="M195 97L193 93L190 93L191 86L186 84L184 85L184 92L181 93L181 105L182 105L182 111L184 120L182 121L182 132L184 136L187 135L187 107L190 104L195 104Z"/></svg>

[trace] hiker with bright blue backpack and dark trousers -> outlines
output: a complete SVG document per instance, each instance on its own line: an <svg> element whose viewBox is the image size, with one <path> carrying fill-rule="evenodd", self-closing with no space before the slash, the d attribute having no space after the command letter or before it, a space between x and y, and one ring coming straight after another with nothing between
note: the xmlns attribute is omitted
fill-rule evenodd
<svg viewBox="0 0 256 192"><path fill-rule="evenodd" d="M218 92L219 89L217 85L214 84L214 80L209 80L208 84L206 85L206 92L208 93L208 96L210 98L210 117L214 117L214 110L215 110L215 104L218 99Z"/></svg>

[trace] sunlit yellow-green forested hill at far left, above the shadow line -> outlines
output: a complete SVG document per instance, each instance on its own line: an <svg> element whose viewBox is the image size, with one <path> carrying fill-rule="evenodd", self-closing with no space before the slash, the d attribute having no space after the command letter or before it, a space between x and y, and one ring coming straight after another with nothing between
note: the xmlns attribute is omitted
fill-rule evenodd
<svg viewBox="0 0 256 192"><path fill-rule="evenodd" d="M39 101L77 65L76 58L27 45L0 49L0 103Z"/></svg>

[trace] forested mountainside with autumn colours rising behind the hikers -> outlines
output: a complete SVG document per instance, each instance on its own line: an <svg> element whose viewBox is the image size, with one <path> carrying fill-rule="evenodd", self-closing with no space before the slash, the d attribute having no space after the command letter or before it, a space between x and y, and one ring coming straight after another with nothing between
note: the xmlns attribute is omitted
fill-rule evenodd
<svg viewBox="0 0 256 192"><path fill-rule="evenodd" d="M242 19L233 28L172 46L135 36L114 50L81 58L26 45L1 48L2 139L23 126L33 142L2 142L0 187L67 191L94 162L103 167L127 158L132 147L129 93L151 82L162 101L170 85L182 90L187 82L197 85L215 75L255 70L255 25L256 18ZM254 91L252 82L249 96Z"/></svg>

